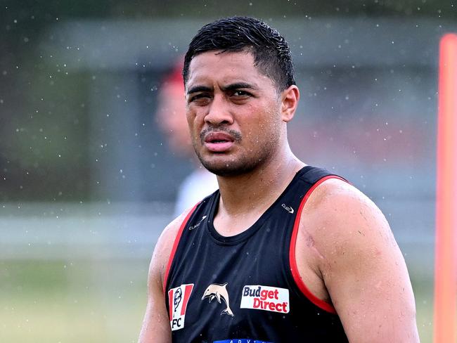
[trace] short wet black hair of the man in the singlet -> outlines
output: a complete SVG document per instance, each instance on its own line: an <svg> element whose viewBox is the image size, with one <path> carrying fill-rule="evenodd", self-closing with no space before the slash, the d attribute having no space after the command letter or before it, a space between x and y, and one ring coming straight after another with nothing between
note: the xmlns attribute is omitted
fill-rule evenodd
<svg viewBox="0 0 457 343"><path fill-rule="evenodd" d="M278 91L295 84L288 42L276 29L250 17L229 17L210 22L193 37L184 57L184 84L192 58L207 51L248 51L259 72L273 80Z"/></svg>

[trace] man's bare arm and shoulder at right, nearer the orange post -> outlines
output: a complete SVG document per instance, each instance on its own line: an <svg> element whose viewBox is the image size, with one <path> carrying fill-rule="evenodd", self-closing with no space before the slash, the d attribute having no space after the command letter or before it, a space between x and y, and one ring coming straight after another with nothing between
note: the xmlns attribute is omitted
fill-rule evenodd
<svg viewBox="0 0 457 343"><path fill-rule="evenodd" d="M343 181L330 179L314 192L304 215L349 342L419 342L411 281L385 217Z"/></svg>

